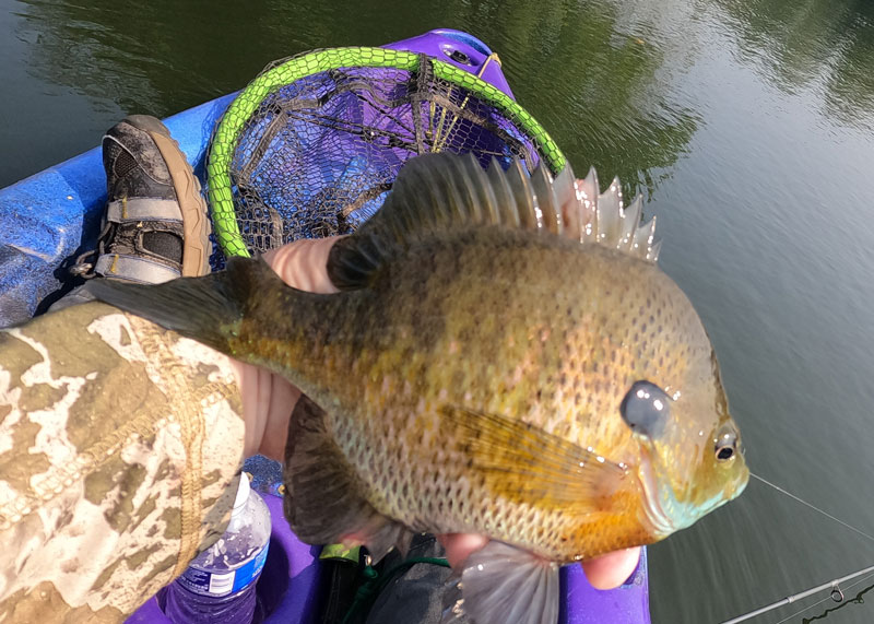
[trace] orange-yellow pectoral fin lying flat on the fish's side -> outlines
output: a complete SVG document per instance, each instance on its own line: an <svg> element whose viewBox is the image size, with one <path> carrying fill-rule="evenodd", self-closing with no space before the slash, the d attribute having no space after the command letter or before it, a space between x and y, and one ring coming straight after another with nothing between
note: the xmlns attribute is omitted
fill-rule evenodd
<svg viewBox="0 0 874 624"><path fill-rule="evenodd" d="M627 468L540 427L498 414L445 405L462 456L486 490L505 499L574 513L597 511L621 488Z"/></svg>

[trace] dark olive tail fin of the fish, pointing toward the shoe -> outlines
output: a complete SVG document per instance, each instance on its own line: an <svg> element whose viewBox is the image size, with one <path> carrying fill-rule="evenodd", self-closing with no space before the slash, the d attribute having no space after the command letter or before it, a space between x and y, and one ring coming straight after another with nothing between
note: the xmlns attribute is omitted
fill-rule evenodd
<svg viewBox="0 0 874 624"><path fill-rule="evenodd" d="M239 321L257 305L265 282L282 280L262 260L231 258L225 271L179 278L163 284L94 280L87 290L99 301L226 351Z"/></svg>

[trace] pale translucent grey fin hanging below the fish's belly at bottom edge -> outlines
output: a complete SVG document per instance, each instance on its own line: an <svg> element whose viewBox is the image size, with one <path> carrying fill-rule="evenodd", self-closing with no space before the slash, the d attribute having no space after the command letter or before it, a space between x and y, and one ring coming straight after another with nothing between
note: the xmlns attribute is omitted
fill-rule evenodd
<svg viewBox="0 0 874 624"><path fill-rule="evenodd" d="M488 542L464 562L461 599L444 611L441 624L556 624L558 566L503 542Z"/></svg>

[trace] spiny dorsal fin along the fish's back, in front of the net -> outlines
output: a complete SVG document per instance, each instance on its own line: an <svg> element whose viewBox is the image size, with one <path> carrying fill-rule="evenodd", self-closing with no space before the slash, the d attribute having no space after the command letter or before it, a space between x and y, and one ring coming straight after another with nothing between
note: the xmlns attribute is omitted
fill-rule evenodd
<svg viewBox="0 0 874 624"><path fill-rule="evenodd" d="M363 287L405 246L476 225L551 233L654 262L656 220L641 225L641 207L639 196L623 205L617 179L599 193L594 169L578 183L570 165L553 177L543 163L529 174L519 160L506 170L493 160L486 172L472 154L423 154L404 164L379 212L334 245L328 271L341 290Z"/></svg>

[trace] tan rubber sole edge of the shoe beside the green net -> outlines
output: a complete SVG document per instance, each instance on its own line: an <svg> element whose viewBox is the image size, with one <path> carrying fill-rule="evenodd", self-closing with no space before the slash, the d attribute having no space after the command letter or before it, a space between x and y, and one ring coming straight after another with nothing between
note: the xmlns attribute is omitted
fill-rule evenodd
<svg viewBox="0 0 874 624"><path fill-rule="evenodd" d="M206 202L200 192L200 180L179 149L179 143L161 120L151 115L130 115L125 121L146 132L167 163L182 213L182 276L205 275L210 272L211 223Z"/></svg>

